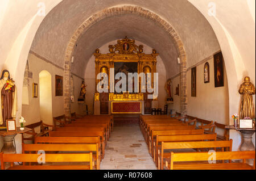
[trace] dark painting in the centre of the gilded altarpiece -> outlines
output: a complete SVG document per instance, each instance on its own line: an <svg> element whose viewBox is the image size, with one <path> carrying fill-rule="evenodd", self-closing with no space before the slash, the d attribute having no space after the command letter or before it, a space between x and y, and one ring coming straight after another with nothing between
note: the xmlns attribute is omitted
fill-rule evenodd
<svg viewBox="0 0 256 181"><path fill-rule="evenodd" d="M138 63L137 62L114 62L114 69L115 72L114 74L116 75L117 73L124 73L126 75L126 90L129 90L129 84L128 84L128 73L137 73L138 72ZM121 80L120 79L115 79L115 84ZM120 87L121 88L121 87ZM133 79L133 88L134 88L134 79ZM134 92L134 89L133 89ZM133 93L130 92L130 93ZM122 94L122 92L120 92Z"/></svg>

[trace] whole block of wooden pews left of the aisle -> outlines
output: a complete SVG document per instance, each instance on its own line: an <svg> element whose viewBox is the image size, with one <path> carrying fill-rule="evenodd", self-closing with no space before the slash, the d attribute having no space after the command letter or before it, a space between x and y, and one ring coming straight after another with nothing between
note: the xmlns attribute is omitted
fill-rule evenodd
<svg viewBox="0 0 256 181"><path fill-rule="evenodd" d="M72 117L58 116L53 120L54 125L48 125L53 129L48 130L47 135L32 134L32 144L22 143L22 154L1 153L1 169L99 170L113 131L113 116L73 113ZM6 168L6 162L11 166ZM14 165L14 162L22 162L22 165Z"/></svg>

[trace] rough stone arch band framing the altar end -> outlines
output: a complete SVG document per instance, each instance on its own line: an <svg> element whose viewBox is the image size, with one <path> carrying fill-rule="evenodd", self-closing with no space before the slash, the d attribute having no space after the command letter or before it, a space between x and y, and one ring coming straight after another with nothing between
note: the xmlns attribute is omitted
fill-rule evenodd
<svg viewBox="0 0 256 181"><path fill-rule="evenodd" d="M93 24L104 18L108 18L114 15L121 14L135 14L138 16L143 16L154 21L158 26L162 27L163 30L170 36L173 40L175 48L177 50L178 56L180 58L180 90L181 90L181 114L187 113L187 57L185 54L185 49L180 36L174 30L170 23L162 19L159 15L154 12L144 9L140 6L126 5L126 6L116 6L110 7L109 9L102 10L96 14L90 16L84 23L77 28L76 32L73 33L72 38L69 40L68 46L65 50L64 56L64 113L65 115L70 115L71 113L71 100L70 100L70 79L71 79L71 59L73 56L73 50L79 38L90 28Z"/></svg>

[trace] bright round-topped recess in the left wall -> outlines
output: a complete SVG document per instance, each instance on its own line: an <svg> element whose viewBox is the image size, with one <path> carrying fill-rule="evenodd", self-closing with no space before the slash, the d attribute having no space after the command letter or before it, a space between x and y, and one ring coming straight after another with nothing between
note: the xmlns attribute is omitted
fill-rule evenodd
<svg viewBox="0 0 256 181"><path fill-rule="evenodd" d="M39 100L41 120L52 125L52 75L47 70L39 73Z"/></svg>

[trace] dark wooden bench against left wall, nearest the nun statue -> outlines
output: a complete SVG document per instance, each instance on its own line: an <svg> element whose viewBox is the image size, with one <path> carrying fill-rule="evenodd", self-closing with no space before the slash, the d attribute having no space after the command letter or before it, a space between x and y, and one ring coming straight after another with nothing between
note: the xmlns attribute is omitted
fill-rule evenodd
<svg viewBox="0 0 256 181"><path fill-rule="evenodd" d="M51 131L49 127L54 129L53 125L48 125L43 123L43 121L39 121L37 123L29 124L25 126L26 128L32 129L32 131L28 131L22 134L22 142L24 143L24 140L31 140L34 143L34 139L36 136L48 136L48 132ZM35 128L40 127L40 132L36 133ZM24 137L24 134L30 134L32 137Z"/></svg>

